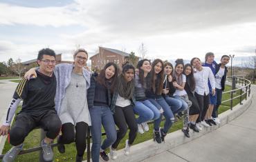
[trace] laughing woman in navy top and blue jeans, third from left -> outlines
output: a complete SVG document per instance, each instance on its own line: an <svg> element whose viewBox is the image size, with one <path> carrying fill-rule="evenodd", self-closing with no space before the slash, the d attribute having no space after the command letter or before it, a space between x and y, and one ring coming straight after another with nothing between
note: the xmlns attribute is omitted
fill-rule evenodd
<svg viewBox="0 0 256 162"><path fill-rule="evenodd" d="M113 92L118 83L118 66L116 63L107 63L100 74L91 76L90 88L87 90L87 101L91 115L91 158L93 162L109 161L105 152L116 141L116 125L113 120L114 107L111 107ZM102 125L107 138L101 143Z"/></svg>

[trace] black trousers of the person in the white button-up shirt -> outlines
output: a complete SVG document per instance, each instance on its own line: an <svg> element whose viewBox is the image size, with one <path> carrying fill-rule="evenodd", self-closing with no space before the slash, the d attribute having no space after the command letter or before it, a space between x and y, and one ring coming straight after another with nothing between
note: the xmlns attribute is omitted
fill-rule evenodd
<svg viewBox="0 0 256 162"><path fill-rule="evenodd" d="M199 118L196 120L196 123L199 123L200 121L203 121L204 120L204 117L205 117L205 114L208 110L208 107L209 107L209 94L207 95L200 95L200 94L197 94L196 92L194 93L195 96L196 96L196 99L199 103L199 108L200 108L200 114L199 114Z"/></svg>

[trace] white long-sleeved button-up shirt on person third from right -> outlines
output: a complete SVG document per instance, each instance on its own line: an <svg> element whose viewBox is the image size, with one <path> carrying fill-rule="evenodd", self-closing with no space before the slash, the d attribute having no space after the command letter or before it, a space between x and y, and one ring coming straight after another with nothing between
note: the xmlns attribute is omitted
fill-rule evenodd
<svg viewBox="0 0 256 162"><path fill-rule="evenodd" d="M203 66L203 70L194 70L194 80L196 81L195 92L200 95L209 94L208 79L212 89L215 89L215 80L212 70L209 67Z"/></svg>

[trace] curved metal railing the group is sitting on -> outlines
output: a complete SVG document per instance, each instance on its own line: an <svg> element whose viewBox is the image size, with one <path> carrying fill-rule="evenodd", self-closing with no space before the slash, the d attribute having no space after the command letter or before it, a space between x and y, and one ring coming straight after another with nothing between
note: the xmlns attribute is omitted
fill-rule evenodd
<svg viewBox="0 0 256 162"><path fill-rule="evenodd" d="M230 101L230 110L232 110L232 107L233 107L233 100L234 99L238 99L239 98L239 103L240 105L242 105L241 101L242 101L242 97L245 95L245 99L247 100L247 97L250 97L250 81L248 79L244 79L243 76L232 76L232 77L227 77L227 81L228 82L232 82L234 81L234 78L235 77L235 83L237 86L239 86L240 88L236 88L234 90L228 90L226 92L223 92L223 94L229 94L230 93L230 99L227 99L225 101L222 101L222 103L226 103L228 101ZM239 95L237 95L236 97L234 97L234 94L237 94L237 92L239 92ZM163 119L165 120L165 119ZM148 124L151 124L151 123L154 123L154 121L149 121ZM106 135L105 132L102 132L102 136ZM45 132L44 130L41 130L41 140L40 140L40 144L41 144L41 141L42 139L44 139L45 137ZM87 161L89 162L90 161L90 157L91 157L91 147L90 147L90 140L91 139L91 134L90 134L90 129L88 129L88 132L87 132L87 138L86 138L86 150L87 150ZM53 143L51 144L52 148L53 147L56 147L57 146L57 143ZM37 152L39 151L40 154L39 154L39 161L40 162L44 162L44 159L42 157L42 147L39 146L39 147L36 147L36 148L29 148L27 150L21 150L21 152L19 152L19 154L28 154L28 153L31 153L31 152ZM3 155L4 154L1 154L0 155L0 159L3 159Z"/></svg>

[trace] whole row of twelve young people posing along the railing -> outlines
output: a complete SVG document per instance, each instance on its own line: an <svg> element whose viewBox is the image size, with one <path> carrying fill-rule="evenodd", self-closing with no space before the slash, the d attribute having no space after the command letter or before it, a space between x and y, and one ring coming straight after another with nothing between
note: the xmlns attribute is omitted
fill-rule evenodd
<svg viewBox="0 0 256 162"><path fill-rule="evenodd" d="M73 59L73 64L55 65L53 50L39 51L39 68L26 72L17 85L0 128L0 135L10 133L10 144L14 145L3 157L4 162L15 160L24 139L36 127L46 131L42 140L45 161L53 160L51 143L56 137L60 153L65 152L65 144L75 141L76 161L82 161L90 128L91 157L97 162L109 161L107 148L111 159L117 158L116 149L129 128L129 139L125 141L128 156L137 132L149 130L147 121L154 121L157 143L164 141L177 117L183 116L182 131L188 138L190 128L199 132L202 125L209 127L220 122L217 110L225 88L227 55L217 64L214 54L208 52L203 65L196 57L185 65L183 59L177 59L175 66L161 59L152 63L142 59L136 68L124 63L122 70L110 62L100 72L84 68L88 59L84 49L75 51ZM22 109L10 129L21 100ZM165 123L160 128L163 116ZM107 135L103 142L102 125Z"/></svg>

